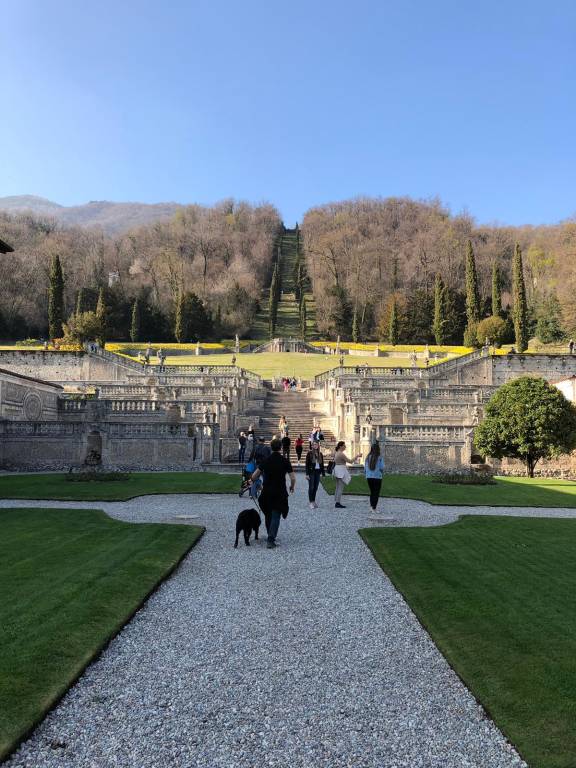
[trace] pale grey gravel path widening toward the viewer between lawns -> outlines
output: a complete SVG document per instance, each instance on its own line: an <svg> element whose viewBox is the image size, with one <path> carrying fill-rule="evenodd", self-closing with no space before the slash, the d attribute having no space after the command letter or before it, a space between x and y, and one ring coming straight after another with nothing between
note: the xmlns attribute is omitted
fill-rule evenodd
<svg viewBox="0 0 576 768"><path fill-rule="evenodd" d="M279 547L232 548L233 496L0 501L197 515L199 544L7 763L9 768L524 766L356 534L366 498L308 509L302 479ZM395 525L576 510L382 500Z"/></svg>

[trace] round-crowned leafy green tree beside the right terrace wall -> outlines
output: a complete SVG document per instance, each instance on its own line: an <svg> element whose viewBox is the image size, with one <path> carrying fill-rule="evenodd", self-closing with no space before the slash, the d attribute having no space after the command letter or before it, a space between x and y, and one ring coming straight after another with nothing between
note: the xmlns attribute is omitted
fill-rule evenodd
<svg viewBox="0 0 576 768"><path fill-rule="evenodd" d="M576 407L544 379L522 376L490 398L474 439L483 456L520 459L534 477L540 459L576 448Z"/></svg>

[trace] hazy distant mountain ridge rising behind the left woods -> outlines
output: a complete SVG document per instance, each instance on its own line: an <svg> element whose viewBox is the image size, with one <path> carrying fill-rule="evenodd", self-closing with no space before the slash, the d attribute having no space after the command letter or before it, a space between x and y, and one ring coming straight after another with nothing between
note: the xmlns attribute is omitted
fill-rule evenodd
<svg viewBox="0 0 576 768"><path fill-rule="evenodd" d="M38 195L8 195L0 197L0 211L32 213L56 219L67 227L102 229L118 235L135 227L171 219L183 206L180 203L139 203L91 200L82 205L60 205Z"/></svg>

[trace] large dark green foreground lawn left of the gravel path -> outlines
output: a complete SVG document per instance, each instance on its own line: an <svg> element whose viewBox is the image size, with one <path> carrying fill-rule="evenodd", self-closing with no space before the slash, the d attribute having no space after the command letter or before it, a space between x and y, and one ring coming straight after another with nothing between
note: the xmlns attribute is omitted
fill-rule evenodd
<svg viewBox="0 0 576 768"><path fill-rule="evenodd" d="M98 510L0 510L0 759L201 533Z"/></svg>

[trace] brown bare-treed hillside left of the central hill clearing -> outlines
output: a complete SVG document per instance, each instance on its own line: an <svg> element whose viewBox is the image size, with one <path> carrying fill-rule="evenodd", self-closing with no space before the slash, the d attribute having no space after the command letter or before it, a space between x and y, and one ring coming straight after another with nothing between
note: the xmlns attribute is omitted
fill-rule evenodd
<svg viewBox="0 0 576 768"><path fill-rule="evenodd" d="M246 333L270 279L280 228L273 206L233 200L214 207L187 206L169 222L118 237L66 229L27 214L0 213L1 236L15 249L2 257L0 338L47 335L48 275L55 255L64 272L64 316L79 304L82 311L94 310L104 287L109 338L128 338L139 298L143 334L173 339L181 292L202 300L218 335Z"/></svg>

